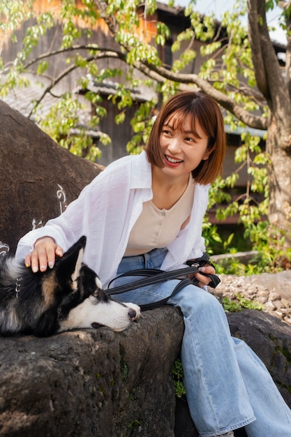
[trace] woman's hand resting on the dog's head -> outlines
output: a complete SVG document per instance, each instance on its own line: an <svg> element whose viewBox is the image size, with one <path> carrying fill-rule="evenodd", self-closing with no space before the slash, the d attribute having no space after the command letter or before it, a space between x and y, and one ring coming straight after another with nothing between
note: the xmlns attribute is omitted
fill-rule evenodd
<svg viewBox="0 0 291 437"><path fill-rule="evenodd" d="M45 272L47 266L52 269L56 256L61 257L64 250L57 246L52 237L42 237L36 240L34 249L25 257L26 267L31 267L34 273Z"/></svg>

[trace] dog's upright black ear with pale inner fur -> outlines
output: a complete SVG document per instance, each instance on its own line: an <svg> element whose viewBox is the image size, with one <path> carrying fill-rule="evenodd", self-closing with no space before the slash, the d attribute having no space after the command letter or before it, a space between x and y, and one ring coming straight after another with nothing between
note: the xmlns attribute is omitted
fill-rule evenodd
<svg viewBox="0 0 291 437"><path fill-rule="evenodd" d="M82 267L86 237L81 237L56 262L57 279L63 286L70 281L70 287L77 290L77 279Z"/></svg>

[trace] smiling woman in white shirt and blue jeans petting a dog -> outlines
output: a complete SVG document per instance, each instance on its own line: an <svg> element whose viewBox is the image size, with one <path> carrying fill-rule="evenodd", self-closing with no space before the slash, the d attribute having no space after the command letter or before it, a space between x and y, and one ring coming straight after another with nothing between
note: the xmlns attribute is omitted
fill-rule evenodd
<svg viewBox="0 0 291 437"><path fill-rule="evenodd" d="M105 287L133 269L180 268L205 250L202 218L224 154L218 105L194 91L177 94L159 112L145 151L109 165L64 214L24 236L17 256L33 272L45 271L56 255L87 235L84 261ZM213 274L214 268L201 271ZM210 279L200 273L195 278L199 286L186 286L168 304L184 315L184 383L200 436L231 437L245 427L249 437L290 437L290 409L267 369L246 343L230 335L222 306L207 292ZM177 280L167 281L119 299L155 302L176 285Z"/></svg>

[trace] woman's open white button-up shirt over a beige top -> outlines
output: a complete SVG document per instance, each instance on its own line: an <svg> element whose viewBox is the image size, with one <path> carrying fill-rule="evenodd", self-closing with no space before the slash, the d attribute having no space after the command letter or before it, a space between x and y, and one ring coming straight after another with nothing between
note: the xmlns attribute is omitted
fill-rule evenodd
<svg viewBox="0 0 291 437"><path fill-rule="evenodd" d="M183 267L188 259L204 251L202 218L207 209L209 186L196 184L191 218L167 245L161 269ZM130 155L108 165L68 205L66 211L43 228L24 235L17 246L17 258L25 258L36 239L50 235L66 251L82 235L87 237L84 262L100 276L103 286L116 276L124 256L130 230L142 212L142 203L153 198L151 164L147 154Z"/></svg>

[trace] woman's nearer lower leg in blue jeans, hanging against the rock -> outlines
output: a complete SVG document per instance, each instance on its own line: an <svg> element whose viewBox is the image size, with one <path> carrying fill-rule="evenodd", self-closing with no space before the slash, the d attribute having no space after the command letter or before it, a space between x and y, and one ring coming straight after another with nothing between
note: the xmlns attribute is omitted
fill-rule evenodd
<svg viewBox="0 0 291 437"><path fill-rule="evenodd" d="M195 286L184 288L169 303L179 306L184 315L184 385L200 436L218 436L253 422L255 416L221 304Z"/></svg>

